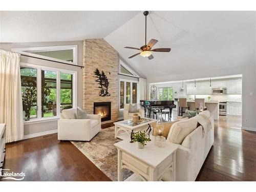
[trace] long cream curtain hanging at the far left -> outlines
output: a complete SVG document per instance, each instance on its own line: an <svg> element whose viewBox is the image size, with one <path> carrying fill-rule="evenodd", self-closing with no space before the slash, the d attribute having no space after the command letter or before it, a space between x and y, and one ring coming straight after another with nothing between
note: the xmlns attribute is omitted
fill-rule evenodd
<svg viewBox="0 0 256 192"><path fill-rule="evenodd" d="M1 49L0 123L6 124L6 142L24 138L19 54Z"/></svg>

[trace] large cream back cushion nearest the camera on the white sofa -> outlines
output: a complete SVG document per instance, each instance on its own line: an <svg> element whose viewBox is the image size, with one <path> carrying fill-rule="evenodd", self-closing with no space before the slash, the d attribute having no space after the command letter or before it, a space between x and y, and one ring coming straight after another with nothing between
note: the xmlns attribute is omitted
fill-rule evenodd
<svg viewBox="0 0 256 192"><path fill-rule="evenodd" d="M172 132L169 136L169 141L172 143L181 144L185 137L197 128L196 119L187 119L174 123L171 127Z"/></svg>

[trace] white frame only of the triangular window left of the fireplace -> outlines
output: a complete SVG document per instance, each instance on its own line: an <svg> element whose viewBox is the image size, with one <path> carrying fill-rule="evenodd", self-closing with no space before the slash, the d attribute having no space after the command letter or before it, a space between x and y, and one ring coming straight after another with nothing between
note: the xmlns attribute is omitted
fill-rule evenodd
<svg viewBox="0 0 256 192"><path fill-rule="evenodd" d="M73 50L73 62L33 53L33 52L47 52L47 51L61 51L61 50ZM27 52L27 51L30 51L30 52ZM12 52L20 53L20 54L31 56L31 57L37 57L41 59L48 59L52 61L68 63L71 65L77 66L77 45L17 48L17 49L12 49Z"/></svg>

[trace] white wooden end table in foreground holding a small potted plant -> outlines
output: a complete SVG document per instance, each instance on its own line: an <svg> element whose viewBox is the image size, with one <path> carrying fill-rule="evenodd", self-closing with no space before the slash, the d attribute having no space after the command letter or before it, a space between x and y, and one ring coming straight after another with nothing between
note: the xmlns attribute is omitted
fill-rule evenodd
<svg viewBox="0 0 256 192"><path fill-rule="evenodd" d="M118 181L123 181L123 168L130 169L134 174L125 181L161 181L164 174L169 174L172 181L176 180L176 150L178 144L166 141L165 147L157 147L151 141L142 149L137 143L123 140L115 143L118 151Z"/></svg>

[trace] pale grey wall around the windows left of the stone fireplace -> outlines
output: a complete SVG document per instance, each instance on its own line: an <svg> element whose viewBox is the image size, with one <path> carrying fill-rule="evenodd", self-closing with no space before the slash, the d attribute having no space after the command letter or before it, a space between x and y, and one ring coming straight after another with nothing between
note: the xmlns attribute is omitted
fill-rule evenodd
<svg viewBox="0 0 256 192"><path fill-rule="evenodd" d="M77 45L78 65L82 66L82 41L59 41L59 42L28 42L28 43L15 43L15 44L0 44L0 48L11 51L14 48L27 48L27 47L45 47L45 46L62 46L62 45ZM82 106L82 70L78 67L68 66L61 63L36 59L26 56L20 56L20 62L33 63L35 65L56 67L59 69L67 69L77 71L77 105ZM40 122L24 125L25 137L31 134L40 132L52 131L57 129L57 120L50 122Z"/></svg>

